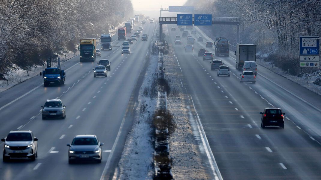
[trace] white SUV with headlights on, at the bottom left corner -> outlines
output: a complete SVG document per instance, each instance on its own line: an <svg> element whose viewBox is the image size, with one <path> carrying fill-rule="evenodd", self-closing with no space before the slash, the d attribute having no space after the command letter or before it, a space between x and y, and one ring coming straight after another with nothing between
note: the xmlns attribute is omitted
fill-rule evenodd
<svg viewBox="0 0 321 180"><path fill-rule="evenodd" d="M38 151L38 139L29 131L10 131L4 142L3 161L10 158L30 158L36 160Z"/></svg>

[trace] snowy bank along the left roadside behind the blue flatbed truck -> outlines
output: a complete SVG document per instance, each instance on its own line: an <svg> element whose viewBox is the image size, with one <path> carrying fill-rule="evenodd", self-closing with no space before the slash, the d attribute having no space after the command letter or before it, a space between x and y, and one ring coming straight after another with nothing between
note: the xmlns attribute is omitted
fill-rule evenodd
<svg viewBox="0 0 321 180"><path fill-rule="evenodd" d="M68 53L65 53L64 55L58 55L58 57L60 57L61 62L63 63L66 60L71 59L74 56L77 56L78 54L79 51L77 51L77 53L68 51ZM55 67L57 65L57 62L55 60L52 60L51 64L53 67ZM46 67L46 63L44 66ZM4 78L7 79L8 82L0 81L0 92L5 91L36 75L39 75L39 73L44 70L44 66L37 65L22 69L21 67L13 65L14 68L12 68L12 70L10 70L9 72L7 72L7 74L4 75ZM29 76L27 76L27 71L29 72Z"/></svg>

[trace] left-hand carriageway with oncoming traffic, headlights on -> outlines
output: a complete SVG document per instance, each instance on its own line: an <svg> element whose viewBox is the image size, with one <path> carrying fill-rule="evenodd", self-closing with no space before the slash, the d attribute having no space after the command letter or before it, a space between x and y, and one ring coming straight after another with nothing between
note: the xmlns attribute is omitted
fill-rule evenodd
<svg viewBox="0 0 321 180"><path fill-rule="evenodd" d="M149 39L155 26L143 26ZM114 40L112 51L102 51L95 62L80 63L79 56L65 61L61 67L66 72L66 82L61 87L44 87L38 75L0 93L0 137L6 137L11 130L32 130L39 139L38 158L1 160L0 179L87 180L108 178L113 173L131 127L151 43L137 38L131 45L131 54L121 54L124 40L118 41L117 34ZM109 59L111 71L108 77L94 78L92 68L100 59ZM42 120L40 106L54 98L62 99L67 106L66 119ZM78 134L95 134L104 143L101 163L68 164L66 144Z"/></svg>

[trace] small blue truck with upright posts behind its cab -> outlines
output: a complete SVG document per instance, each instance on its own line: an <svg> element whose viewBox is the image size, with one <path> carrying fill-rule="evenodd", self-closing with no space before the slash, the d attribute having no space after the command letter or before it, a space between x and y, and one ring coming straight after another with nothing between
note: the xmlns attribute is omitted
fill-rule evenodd
<svg viewBox="0 0 321 180"><path fill-rule="evenodd" d="M59 86L65 84L66 74L60 69L60 58L58 58L57 67L51 67L51 59L47 59L47 68L40 75L43 78L43 85L47 87L49 84L57 84Z"/></svg>

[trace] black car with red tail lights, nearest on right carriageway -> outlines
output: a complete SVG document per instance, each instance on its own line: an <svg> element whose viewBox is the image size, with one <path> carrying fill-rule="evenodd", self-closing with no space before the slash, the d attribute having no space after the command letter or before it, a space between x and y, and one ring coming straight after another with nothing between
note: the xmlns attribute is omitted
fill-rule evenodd
<svg viewBox="0 0 321 180"><path fill-rule="evenodd" d="M285 113L282 113L280 108L268 108L264 109L264 112L261 117L261 127L265 128L265 126L280 126L284 129L284 116Z"/></svg>

